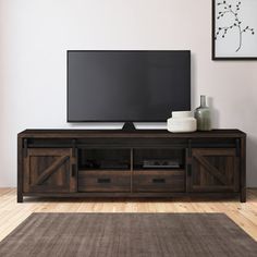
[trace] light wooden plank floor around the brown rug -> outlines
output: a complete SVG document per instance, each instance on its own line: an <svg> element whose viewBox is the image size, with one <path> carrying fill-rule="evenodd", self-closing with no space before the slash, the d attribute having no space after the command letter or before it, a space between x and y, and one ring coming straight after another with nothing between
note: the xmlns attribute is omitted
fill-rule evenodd
<svg viewBox="0 0 257 257"><path fill-rule="evenodd" d="M257 189L238 199L25 199L14 188L0 188L0 241L33 212L222 212L257 241Z"/></svg>

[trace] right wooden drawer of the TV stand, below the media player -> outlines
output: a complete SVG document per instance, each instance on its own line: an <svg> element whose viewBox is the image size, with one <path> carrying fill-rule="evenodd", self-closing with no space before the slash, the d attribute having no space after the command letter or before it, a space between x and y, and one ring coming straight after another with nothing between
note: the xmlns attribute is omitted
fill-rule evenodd
<svg viewBox="0 0 257 257"><path fill-rule="evenodd" d="M133 192L184 192L184 170L137 170L133 174Z"/></svg>

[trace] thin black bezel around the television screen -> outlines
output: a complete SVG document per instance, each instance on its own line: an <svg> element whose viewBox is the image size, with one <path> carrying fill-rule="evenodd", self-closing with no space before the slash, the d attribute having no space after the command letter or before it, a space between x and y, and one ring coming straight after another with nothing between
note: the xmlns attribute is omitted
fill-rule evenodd
<svg viewBox="0 0 257 257"><path fill-rule="evenodd" d="M71 120L69 119L69 53L70 52L184 52L184 53L188 53L189 54L189 75L191 75L191 50L66 50L66 122L69 123L89 123L89 122L94 122L94 123L100 123L100 122L145 122L145 123L149 123L149 122L166 122L166 120ZM191 78L192 79L192 78ZM189 79L189 109L191 109L191 105L192 105L192 100L191 100L191 83Z"/></svg>

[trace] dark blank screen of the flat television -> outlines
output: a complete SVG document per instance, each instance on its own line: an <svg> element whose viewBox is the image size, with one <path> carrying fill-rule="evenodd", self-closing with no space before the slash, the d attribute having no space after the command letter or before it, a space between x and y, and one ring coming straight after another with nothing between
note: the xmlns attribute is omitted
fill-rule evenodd
<svg viewBox="0 0 257 257"><path fill-rule="evenodd" d="M189 51L68 51L69 122L162 122L189 109Z"/></svg>

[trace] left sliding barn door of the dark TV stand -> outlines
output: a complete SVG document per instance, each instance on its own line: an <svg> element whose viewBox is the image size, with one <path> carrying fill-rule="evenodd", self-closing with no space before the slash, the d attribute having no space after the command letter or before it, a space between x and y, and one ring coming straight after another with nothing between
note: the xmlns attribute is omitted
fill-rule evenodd
<svg viewBox="0 0 257 257"><path fill-rule="evenodd" d="M28 148L24 159L23 191L76 192L76 159L70 148Z"/></svg>

